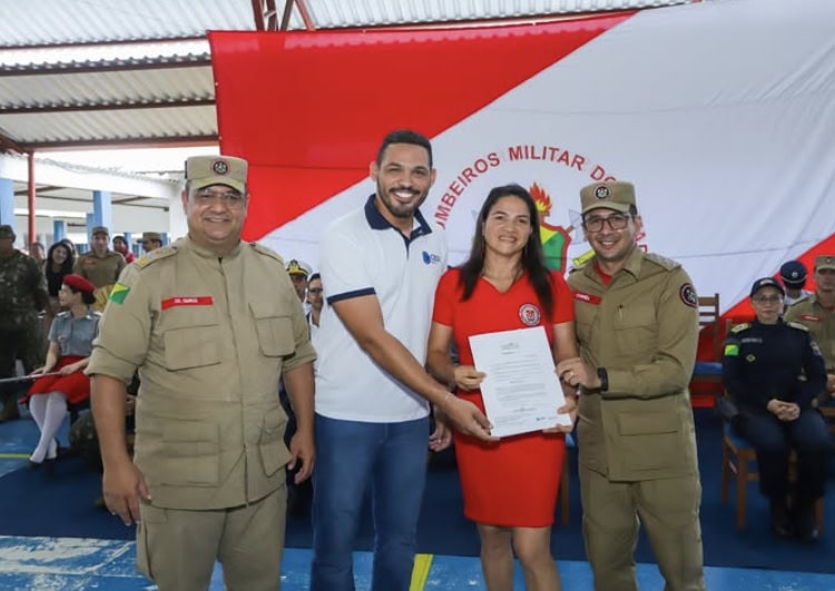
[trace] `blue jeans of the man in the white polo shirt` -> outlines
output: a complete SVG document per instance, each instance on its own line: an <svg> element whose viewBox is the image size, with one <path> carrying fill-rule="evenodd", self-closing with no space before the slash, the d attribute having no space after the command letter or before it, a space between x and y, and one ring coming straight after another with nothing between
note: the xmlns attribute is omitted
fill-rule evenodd
<svg viewBox="0 0 835 591"><path fill-rule="evenodd" d="M426 481L429 418L363 423L316 415L311 591L353 591L353 546L369 485L372 591L409 591Z"/></svg>

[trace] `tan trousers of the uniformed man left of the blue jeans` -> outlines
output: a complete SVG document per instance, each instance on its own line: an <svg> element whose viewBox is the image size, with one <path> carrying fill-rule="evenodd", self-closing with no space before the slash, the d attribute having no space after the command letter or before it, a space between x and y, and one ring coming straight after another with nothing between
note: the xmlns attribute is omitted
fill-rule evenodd
<svg viewBox="0 0 835 591"><path fill-rule="evenodd" d="M287 489L249 505L188 511L141 505L137 568L159 591L205 591L215 560L229 591L281 587Z"/></svg>

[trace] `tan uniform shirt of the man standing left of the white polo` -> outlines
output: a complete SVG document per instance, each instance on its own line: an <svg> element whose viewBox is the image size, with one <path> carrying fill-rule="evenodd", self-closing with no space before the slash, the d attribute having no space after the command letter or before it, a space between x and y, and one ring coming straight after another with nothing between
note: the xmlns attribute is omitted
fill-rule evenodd
<svg viewBox="0 0 835 591"><path fill-rule="evenodd" d="M278 381L314 358L278 255L242 243L220 259L184 238L125 272L87 372L139 368L134 461L154 505L222 509L284 483Z"/></svg>

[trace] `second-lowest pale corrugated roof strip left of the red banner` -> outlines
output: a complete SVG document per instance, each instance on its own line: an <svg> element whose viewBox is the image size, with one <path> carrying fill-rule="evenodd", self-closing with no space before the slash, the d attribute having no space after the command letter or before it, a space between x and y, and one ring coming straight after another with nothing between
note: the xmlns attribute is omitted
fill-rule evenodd
<svg viewBox="0 0 835 591"><path fill-rule="evenodd" d="M214 99L208 66L161 70L102 70L72 75L0 76L0 114L13 107Z"/></svg>

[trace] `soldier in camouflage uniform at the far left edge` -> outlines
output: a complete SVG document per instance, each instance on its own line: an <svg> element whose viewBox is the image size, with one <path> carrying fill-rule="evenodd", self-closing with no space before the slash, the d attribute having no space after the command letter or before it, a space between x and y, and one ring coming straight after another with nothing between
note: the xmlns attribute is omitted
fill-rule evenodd
<svg viewBox="0 0 835 591"><path fill-rule="evenodd" d="M38 263L14 248L14 230L0 226L0 378L14 376L19 358L30 373L41 361L38 313L49 303L47 280ZM24 387L27 384L22 384ZM19 385L0 385L0 422L18 417Z"/></svg>

